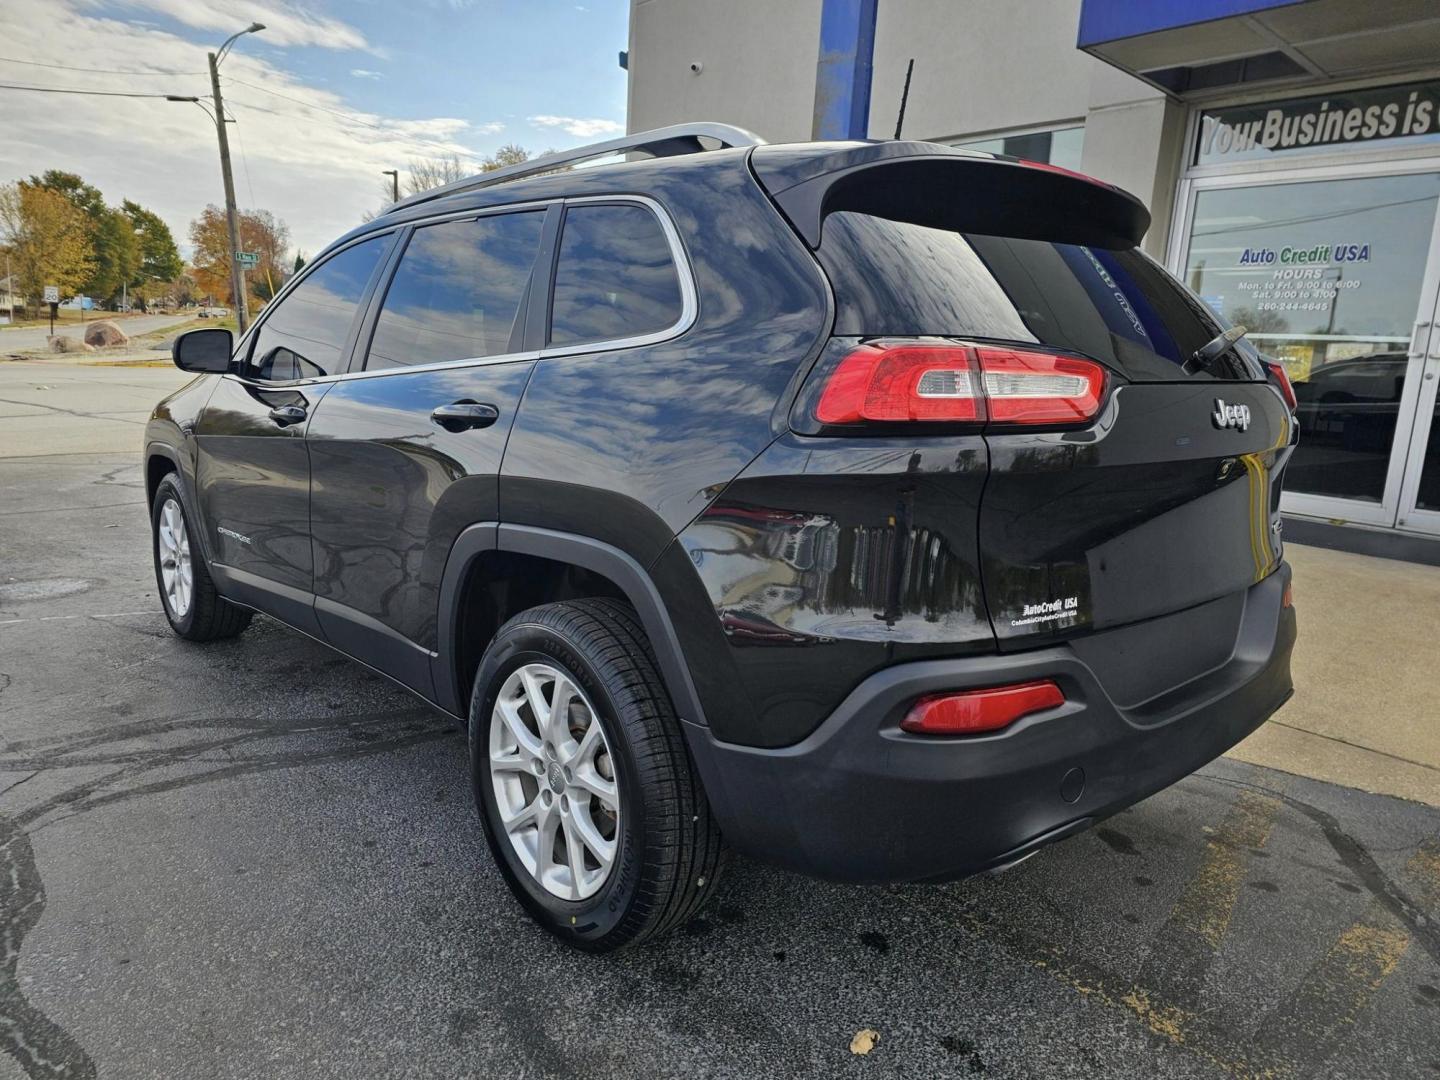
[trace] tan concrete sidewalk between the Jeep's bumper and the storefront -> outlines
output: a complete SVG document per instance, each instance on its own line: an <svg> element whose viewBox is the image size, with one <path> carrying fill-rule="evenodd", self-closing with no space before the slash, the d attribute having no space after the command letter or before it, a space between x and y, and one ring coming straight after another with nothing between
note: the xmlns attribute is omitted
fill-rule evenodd
<svg viewBox="0 0 1440 1080"><path fill-rule="evenodd" d="M1284 553L1295 697L1230 756L1440 806L1440 567Z"/></svg>

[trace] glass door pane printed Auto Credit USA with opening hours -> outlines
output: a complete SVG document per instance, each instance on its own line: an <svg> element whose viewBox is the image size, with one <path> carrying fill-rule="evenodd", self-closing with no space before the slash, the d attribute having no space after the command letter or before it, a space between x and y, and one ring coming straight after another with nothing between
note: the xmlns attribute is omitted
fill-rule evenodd
<svg viewBox="0 0 1440 1080"><path fill-rule="evenodd" d="M1204 189L1185 281L1299 399L1286 487L1380 503L1440 174Z"/></svg>

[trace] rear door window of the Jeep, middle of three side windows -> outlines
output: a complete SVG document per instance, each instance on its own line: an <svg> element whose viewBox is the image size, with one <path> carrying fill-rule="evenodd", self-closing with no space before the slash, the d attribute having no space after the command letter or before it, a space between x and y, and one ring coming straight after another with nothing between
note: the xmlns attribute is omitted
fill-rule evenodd
<svg viewBox="0 0 1440 1080"><path fill-rule="evenodd" d="M384 294L366 369L513 351L543 220L524 212L416 229Z"/></svg>

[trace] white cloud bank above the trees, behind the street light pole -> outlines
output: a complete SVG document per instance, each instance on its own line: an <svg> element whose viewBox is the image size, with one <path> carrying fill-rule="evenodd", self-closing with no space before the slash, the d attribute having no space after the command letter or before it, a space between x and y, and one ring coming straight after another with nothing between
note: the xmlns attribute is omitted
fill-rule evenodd
<svg viewBox="0 0 1440 1080"><path fill-rule="evenodd" d="M203 46L167 30L96 16L91 4L3 0L6 55L73 68L190 72L148 79L140 89L209 96ZM207 6L209 0L196 4ZM238 1L235 9L245 12L238 16L242 24L256 17L251 14L256 6ZM233 26L235 9L228 26ZM258 17L266 22L265 14ZM338 94L300 82L284 59L272 65L243 42L226 58L222 76L226 108L238 121L230 127L236 196L245 207L282 217L295 246L307 252L324 248L359 225L364 212L380 207L382 170L455 154L462 167L478 171L484 151L474 144L504 127L361 111ZM112 91L137 81L69 71L46 82ZM79 173L112 204L134 199L158 213L189 249L190 222L206 203L223 199L215 127L194 105L137 98L117 109L117 101L10 95L0 137L0 184L46 168Z"/></svg>

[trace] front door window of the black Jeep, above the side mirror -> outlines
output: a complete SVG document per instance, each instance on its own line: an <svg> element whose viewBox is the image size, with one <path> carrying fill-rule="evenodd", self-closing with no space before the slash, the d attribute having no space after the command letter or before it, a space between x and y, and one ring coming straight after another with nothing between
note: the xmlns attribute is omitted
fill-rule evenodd
<svg viewBox="0 0 1440 1080"><path fill-rule="evenodd" d="M346 248L266 311L255 334L251 374L275 382L336 374L360 298L389 243L386 233Z"/></svg>

